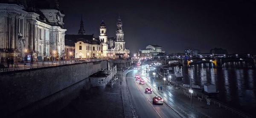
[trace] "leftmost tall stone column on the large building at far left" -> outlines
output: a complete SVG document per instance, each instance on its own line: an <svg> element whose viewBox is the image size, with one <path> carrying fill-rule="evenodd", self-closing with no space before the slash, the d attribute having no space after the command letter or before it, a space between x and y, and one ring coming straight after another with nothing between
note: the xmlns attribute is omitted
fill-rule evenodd
<svg viewBox="0 0 256 118"><path fill-rule="evenodd" d="M15 17L10 18L10 49L15 49Z"/></svg>

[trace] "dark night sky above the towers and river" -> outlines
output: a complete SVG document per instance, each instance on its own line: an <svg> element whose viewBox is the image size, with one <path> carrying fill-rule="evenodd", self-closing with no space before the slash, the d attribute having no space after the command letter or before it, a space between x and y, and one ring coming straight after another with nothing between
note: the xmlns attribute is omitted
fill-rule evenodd
<svg viewBox="0 0 256 118"><path fill-rule="evenodd" d="M66 34L77 34L81 14L87 34L99 35L104 20L114 37L120 13L131 53L149 44L167 53L184 49L227 49L256 54L256 2L253 0L59 0Z"/></svg>

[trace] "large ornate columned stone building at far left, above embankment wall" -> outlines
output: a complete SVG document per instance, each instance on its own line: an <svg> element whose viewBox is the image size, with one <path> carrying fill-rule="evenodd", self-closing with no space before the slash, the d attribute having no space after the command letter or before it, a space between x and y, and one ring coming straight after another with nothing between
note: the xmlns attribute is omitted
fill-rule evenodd
<svg viewBox="0 0 256 118"><path fill-rule="evenodd" d="M64 14L59 11L57 1L55 8L44 5L44 9L38 9L35 0L0 3L2 63L6 58L29 61L64 56Z"/></svg>

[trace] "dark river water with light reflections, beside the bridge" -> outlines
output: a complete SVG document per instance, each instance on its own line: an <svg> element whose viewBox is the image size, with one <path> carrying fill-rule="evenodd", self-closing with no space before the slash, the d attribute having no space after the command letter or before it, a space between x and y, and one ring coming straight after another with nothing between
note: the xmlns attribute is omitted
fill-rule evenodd
<svg viewBox="0 0 256 118"><path fill-rule="evenodd" d="M219 91L215 99L250 115L256 111L256 69L251 69L246 63L225 63L218 69L210 63L175 67L175 71L182 69L190 76L192 85L215 85ZM182 81L189 84L186 75Z"/></svg>

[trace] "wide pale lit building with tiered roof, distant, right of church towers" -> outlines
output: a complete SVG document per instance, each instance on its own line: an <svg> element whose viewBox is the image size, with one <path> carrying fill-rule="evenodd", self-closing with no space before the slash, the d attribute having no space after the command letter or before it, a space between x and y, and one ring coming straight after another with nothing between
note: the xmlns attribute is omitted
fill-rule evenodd
<svg viewBox="0 0 256 118"><path fill-rule="evenodd" d="M162 46L158 45L148 45L145 49L140 49L138 51L138 57L139 58L154 58L159 53L165 53L165 51L162 50Z"/></svg>

